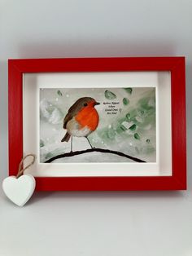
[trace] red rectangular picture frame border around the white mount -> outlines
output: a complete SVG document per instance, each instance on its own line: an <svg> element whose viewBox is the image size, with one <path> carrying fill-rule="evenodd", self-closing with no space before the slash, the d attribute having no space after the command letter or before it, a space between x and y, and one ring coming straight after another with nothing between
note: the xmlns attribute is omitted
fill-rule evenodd
<svg viewBox="0 0 192 256"><path fill-rule="evenodd" d="M23 74L169 71L171 73L172 175L36 177L37 191L185 190L185 57L9 60L9 174L23 157Z"/></svg>

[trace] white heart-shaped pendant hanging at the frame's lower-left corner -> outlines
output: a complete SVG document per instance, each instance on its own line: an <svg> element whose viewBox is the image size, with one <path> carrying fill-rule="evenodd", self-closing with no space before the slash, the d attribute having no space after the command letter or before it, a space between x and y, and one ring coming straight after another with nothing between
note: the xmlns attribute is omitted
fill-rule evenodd
<svg viewBox="0 0 192 256"><path fill-rule="evenodd" d="M31 174L24 174L20 178L10 176L4 179L2 189L15 205L24 206L33 195L35 185L34 177Z"/></svg>

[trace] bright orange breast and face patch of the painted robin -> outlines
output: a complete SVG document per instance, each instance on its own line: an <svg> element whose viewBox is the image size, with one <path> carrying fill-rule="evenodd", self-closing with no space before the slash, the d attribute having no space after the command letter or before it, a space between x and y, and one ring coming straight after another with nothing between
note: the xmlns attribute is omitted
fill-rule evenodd
<svg viewBox="0 0 192 256"><path fill-rule="evenodd" d="M81 128L88 126L90 130L95 130L98 126L98 112L93 107L83 108L75 118Z"/></svg>

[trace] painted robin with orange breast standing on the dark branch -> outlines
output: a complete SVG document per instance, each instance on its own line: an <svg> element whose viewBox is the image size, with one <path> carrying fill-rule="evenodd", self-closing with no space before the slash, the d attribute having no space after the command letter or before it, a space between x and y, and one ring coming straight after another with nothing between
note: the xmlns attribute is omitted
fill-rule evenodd
<svg viewBox="0 0 192 256"><path fill-rule="evenodd" d="M68 142L71 136L85 137L89 142L87 136L98 127L99 117L97 110L94 108L95 105L99 105L99 103L90 97L83 97L76 100L76 103L68 109L68 113L64 117L63 129L67 129L67 132L61 142ZM90 142L89 145L93 148Z"/></svg>

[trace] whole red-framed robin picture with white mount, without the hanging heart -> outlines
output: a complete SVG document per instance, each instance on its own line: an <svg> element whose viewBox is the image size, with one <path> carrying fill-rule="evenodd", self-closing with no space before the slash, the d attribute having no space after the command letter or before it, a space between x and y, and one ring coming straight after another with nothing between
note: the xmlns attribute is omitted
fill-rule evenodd
<svg viewBox="0 0 192 256"><path fill-rule="evenodd" d="M9 173L38 191L186 189L185 58L9 60Z"/></svg>

